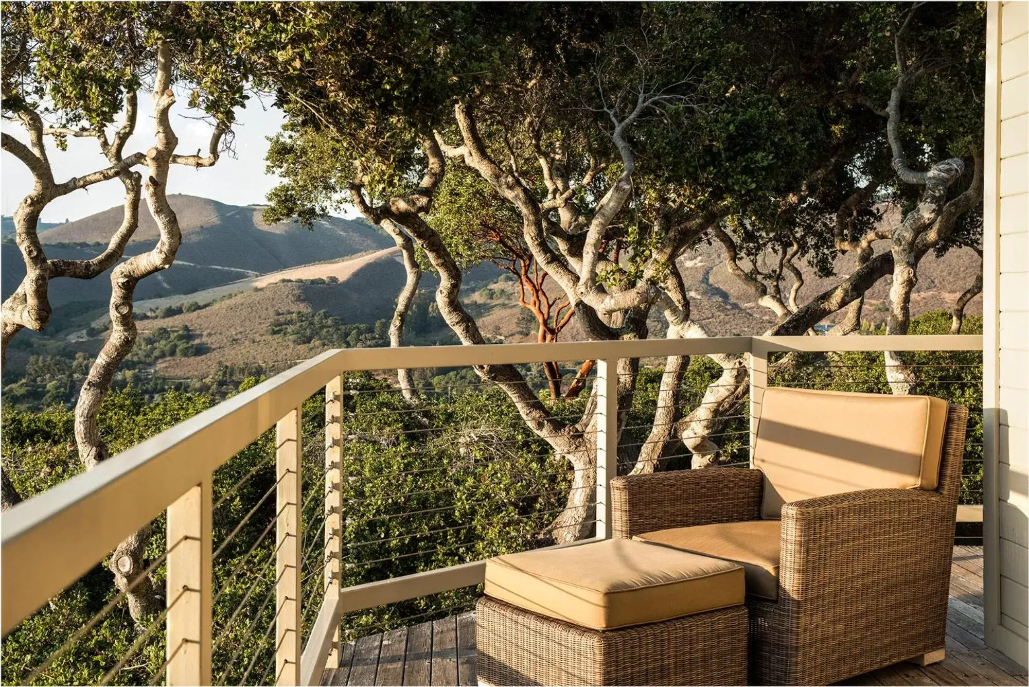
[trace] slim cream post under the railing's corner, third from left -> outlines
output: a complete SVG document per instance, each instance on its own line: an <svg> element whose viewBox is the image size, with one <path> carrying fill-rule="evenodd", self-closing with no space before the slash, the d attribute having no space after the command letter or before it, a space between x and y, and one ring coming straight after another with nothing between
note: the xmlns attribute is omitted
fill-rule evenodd
<svg viewBox="0 0 1029 687"><path fill-rule="evenodd" d="M325 385L325 591L343 578L343 375ZM340 626L332 634L328 670L340 667Z"/></svg>

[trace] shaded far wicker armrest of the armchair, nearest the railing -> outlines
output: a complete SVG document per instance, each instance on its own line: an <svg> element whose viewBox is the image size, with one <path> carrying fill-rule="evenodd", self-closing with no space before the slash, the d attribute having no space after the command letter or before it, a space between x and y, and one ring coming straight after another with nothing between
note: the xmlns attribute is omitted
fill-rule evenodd
<svg viewBox="0 0 1029 687"><path fill-rule="evenodd" d="M705 468L611 480L611 533L631 538L644 532L695 525L756 520L761 513L760 470Z"/></svg>

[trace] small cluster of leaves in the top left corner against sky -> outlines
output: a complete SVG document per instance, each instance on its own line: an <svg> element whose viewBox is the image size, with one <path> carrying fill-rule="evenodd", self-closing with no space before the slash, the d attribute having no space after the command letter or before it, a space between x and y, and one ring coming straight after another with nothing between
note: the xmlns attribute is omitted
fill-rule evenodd
<svg viewBox="0 0 1029 687"><path fill-rule="evenodd" d="M169 41L190 106L232 121L249 66L224 40L218 3L3 5L3 109L28 106L57 125L114 121L126 93L152 87L156 45ZM65 141L58 138L58 145Z"/></svg>

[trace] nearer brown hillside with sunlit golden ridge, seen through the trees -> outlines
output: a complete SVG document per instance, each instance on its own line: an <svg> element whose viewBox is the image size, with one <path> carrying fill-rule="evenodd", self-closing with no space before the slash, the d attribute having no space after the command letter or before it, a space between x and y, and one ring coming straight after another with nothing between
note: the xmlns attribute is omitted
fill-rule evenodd
<svg viewBox="0 0 1029 687"><path fill-rule="evenodd" d="M913 316L929 310L951 308L965 285L974 279L978 265L978 257L967 249L952 251L938 259L926 256L913 301ZM750 291L729 274L720 244L699 246L680 258L680 266L693 296L693 317L712 335L757 334L774 324L772 313L758 306ZM813 269L805 265L807 283L801 293L802 302L849 274L848 270L853 268L852 258L839 258L837 268L840 276L819 279ZM280 281L330 278L339 280L339 283ZM144 320L140 328L146 331L156 327L187 326L196 334L196 340L205 353L196 357L162 360L156 368L168 377L206 376L222 364L259 363L265 369L276 371L330 348L318 340L296 345L288 336L272 334L272 323L278 317L324 311L327 316L342 318L348 325L372 325L377 320L391 316L403 280L398 252L396 249L384 249L348 260L304 265L249 278L190 296L142 301L139 303L140 312L188 300L211 302L236 294L192 313ZM788 282L784 284L784 288L788 289ZM434 288L435 280L426 274L421 283L426 300L431 300ZM888 284L880 283L868 292L864 310L866 320L877 323L884 320L888 288ZM508 344L536 340L535 326L527 320L524 309L518 304L516 284L492 265L481 265L466 276L462 302L475 317L489 340ZM982 300L977 298L969 304L968 313L980 314L981 311ZM663 329L659 317L651 318L651 327L655 333ZM413 340L409 334L409 342L425 344L433 338L445 340L449 336L447 328L441 326L438 331L423 337L425 340ZM563 340L582 338L584 332L575 320L562 332ZM88 342L82 341L83 345Z"/></svg>

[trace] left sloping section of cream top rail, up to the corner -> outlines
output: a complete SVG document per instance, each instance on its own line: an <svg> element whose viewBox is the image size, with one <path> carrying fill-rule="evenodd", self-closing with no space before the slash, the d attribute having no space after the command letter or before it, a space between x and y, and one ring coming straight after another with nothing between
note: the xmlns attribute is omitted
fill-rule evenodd
<svg viewBox="0 0 1029 687"><path fill-rule="evenodd" d="M4 513L3 634L339 373L339 353L295 365Z"/></svg>

